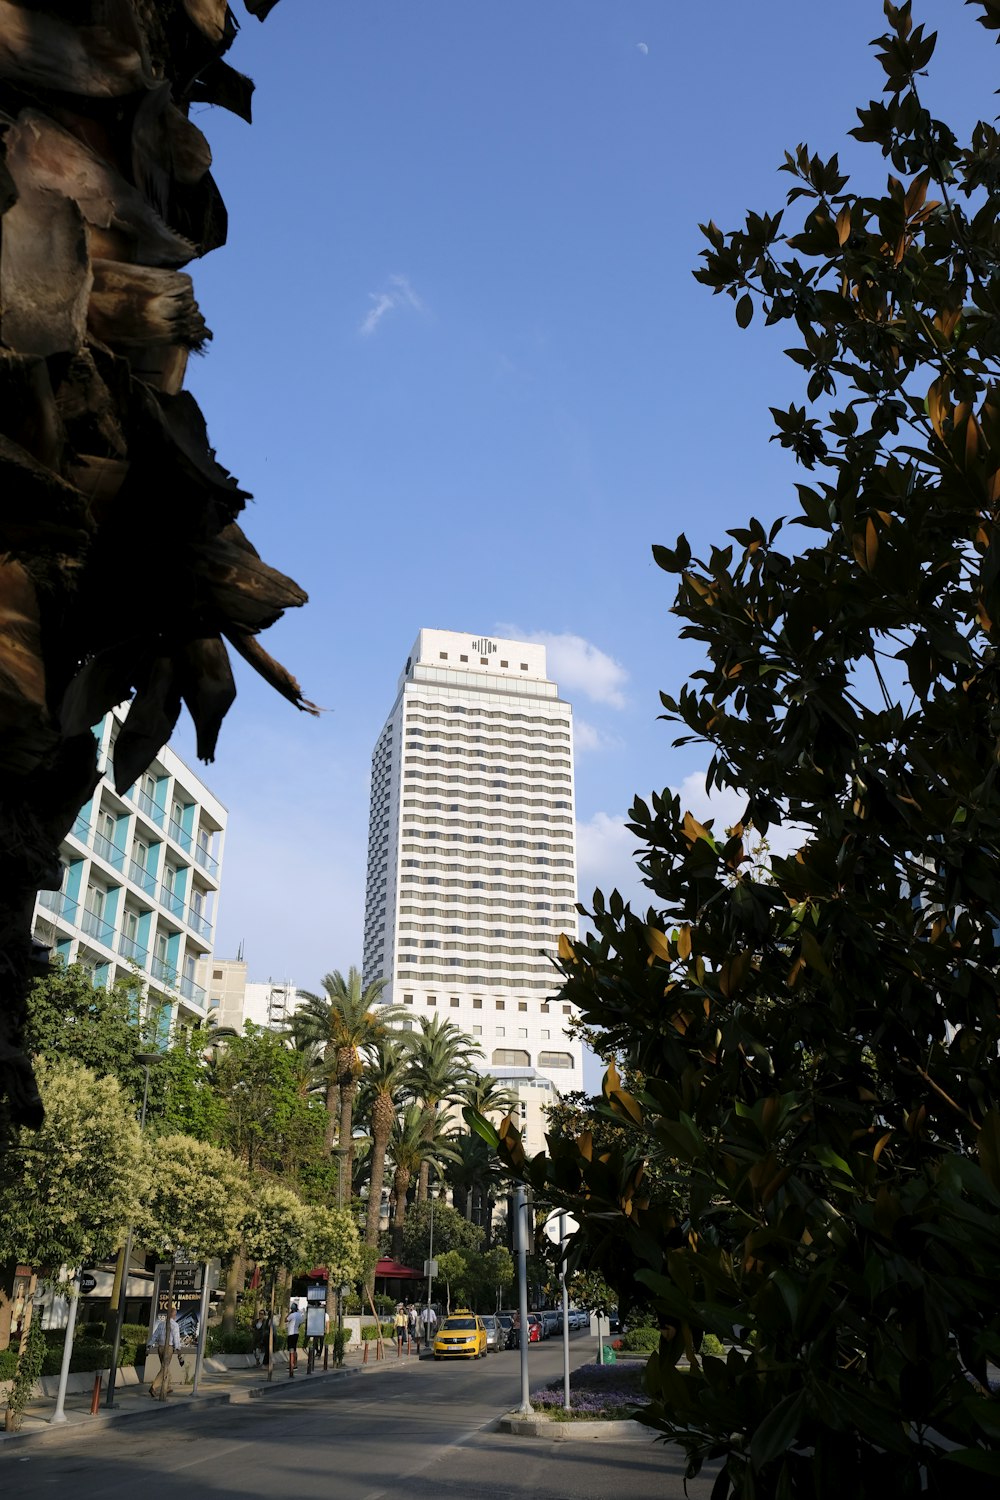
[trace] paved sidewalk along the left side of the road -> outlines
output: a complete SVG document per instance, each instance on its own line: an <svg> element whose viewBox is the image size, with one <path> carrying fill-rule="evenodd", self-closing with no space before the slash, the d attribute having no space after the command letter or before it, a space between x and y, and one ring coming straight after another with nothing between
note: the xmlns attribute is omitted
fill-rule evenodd
<svg viewBox="0 0 1000 1500"><path fill-rule="evenodd" d="M183 1376L186 1383L180 1384L175 1382L174 1390L166 1401L150 1400L145 1382L139 1382L138 1384L115 1383L114 1407L108 1410L103 1404L106 1395L105 1380L100 1390L100 1407L97 1414L91 1416L91 1378L87 1390L66 1395L63 1407L66 1412L66 1420L57 1426L52 1426L49 1420L52 1412L55 1410L54 1396L31 1401L24 1410L24 1420L18 1432L6 1432L0 1426L0 1454L3 1454L7 1446L18 1446L30 1442L58 1440L63 1432L73 1432L76 1436L81 1428L96 1431L97 1428L109 1424L127 1422L133 1418L148 1418L154 1420L157 1416L162 1416L177 1407L204 1407L253 1401L256 1398L264 1398L268 1394L273 1395L276 1392L298 1389L301 1384L312 1384L315 1380L345 1380L352 1376L367 1374L369 1371L375 1372L381 1370L394 1370L405 1365L415 1368L420 1364L420 1358L421 1356L417 1353L415 1347L409 1356L403 1354L402 1358L397 1358L396 1347L387 1342L385 1358L378 1360L375 1358L375 1344L372 1344L366 1364L364 1347L360 1346L357 1348L349 1348L345 1353L343 1366L340 1370L334 1370L331 1365L330 1370L324 1372L322 1360L319 1360L312 1376L306 1374L306 1359L300 1354L298 1370L295 1376L289 1376L288 1356L279 1352L274 1360L274 1376L270 1382L267 1378L265 1366L258 1366L252 1360L249 1366L229 1370L220 1362L205 1358L198 1384L198 1395L192 1396L190 1378L193 1376L195 1365L192 1354L186 1358L184 1370L177 1370L177 1366L174 1366L174 1377Z"/></svg>

